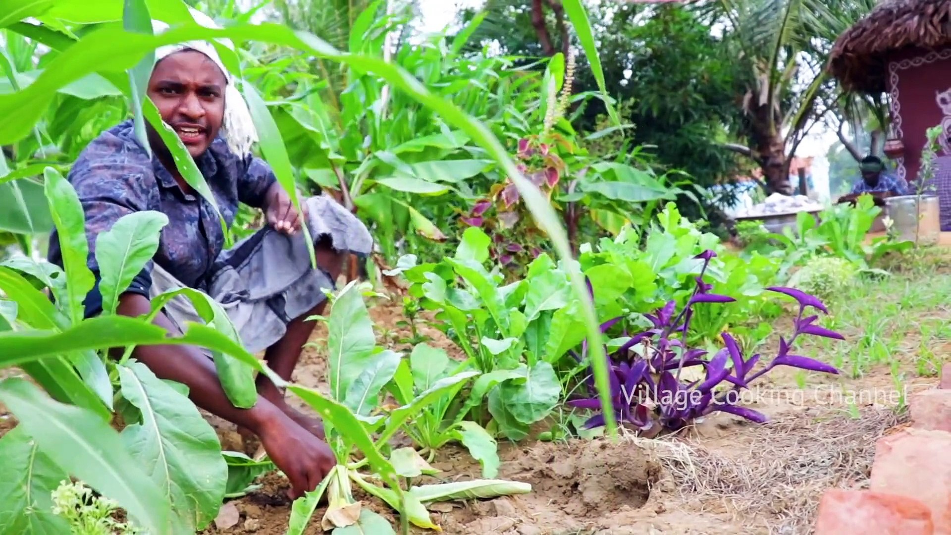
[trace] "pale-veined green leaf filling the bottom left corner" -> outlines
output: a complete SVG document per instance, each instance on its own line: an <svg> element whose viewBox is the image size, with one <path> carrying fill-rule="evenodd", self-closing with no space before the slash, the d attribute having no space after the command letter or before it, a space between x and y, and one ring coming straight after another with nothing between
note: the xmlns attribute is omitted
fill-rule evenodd
<svg viewBox="0 0 951 535"><path fill-rule="evenodd" d="M20 426L0 438L0 459L0 533L68 533L66 520L53 514L50 496L69 479L68 472L40 451Z"/></svg>

